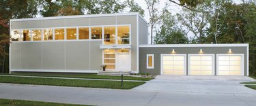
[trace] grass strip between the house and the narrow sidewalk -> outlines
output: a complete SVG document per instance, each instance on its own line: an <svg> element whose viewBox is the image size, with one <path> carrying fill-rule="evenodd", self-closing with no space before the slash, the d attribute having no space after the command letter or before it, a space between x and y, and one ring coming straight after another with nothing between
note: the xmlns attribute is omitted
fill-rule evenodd
<svg viewBox="0 0 256 106"><path fill-rule="evenodd" d="M96 74L68 74L68 75L44 75L44 74L35 74L35 73L18 73L11 75L29 75L29 76L50 76L50 77L76 77L76 78L89 78L89 79L121 79L121 75L96 75ZM154 77L132 77L124 76L124 80L141 80L149 81L154 79Z"/></svg>

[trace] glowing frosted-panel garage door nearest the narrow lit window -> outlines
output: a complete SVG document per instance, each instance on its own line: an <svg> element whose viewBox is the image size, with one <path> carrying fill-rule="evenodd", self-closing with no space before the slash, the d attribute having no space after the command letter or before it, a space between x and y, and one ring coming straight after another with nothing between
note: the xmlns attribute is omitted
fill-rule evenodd
<svg viewBox="0 0 256 106"><path fill-rule="evenodd" d="M184 55L162 55L163 75L186 75Z"/></svg>

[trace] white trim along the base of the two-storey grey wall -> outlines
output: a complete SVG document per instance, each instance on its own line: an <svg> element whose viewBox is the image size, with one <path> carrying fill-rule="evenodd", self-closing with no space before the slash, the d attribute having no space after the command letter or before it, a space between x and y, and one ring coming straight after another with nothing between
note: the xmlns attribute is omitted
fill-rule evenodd
<svg viewBox="0 0 256 106"><path fill-rule="evenodd" d="M100 70L64 70L64 69L10 69L16 72L60 72L60 73L98 73Z"/></svg>

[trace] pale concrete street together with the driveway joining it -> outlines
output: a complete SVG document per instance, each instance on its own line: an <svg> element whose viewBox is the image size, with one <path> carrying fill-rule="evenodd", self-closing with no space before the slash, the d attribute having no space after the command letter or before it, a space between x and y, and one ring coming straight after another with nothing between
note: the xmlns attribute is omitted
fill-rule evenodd
<svg viewBox="0 0 256 106"><path fill-rule="evenodd" d="M256 90L239 84L244 81L255 80L250 77L158 76L132 90L0 84L0 98L86 105L254 106Z"/></svg>

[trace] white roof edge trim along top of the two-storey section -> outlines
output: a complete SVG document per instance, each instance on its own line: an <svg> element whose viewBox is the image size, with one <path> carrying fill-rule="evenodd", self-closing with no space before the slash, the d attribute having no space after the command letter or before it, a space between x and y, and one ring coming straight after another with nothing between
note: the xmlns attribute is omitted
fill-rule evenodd
<svg viewBox="0 0 256 106"><path fill-rule="evenodd" d="M75 16L50 16L42 18L20 18L20 19L10 19L11 22L14 21L28 21L28 20L53 20L53 19L68 19L68 18L91 18L91 17L103 17L103 16L133 16L138 15L146 23L147 21L139 14L139 12L130 12L130 13L117 13L117 14L88 14L88 15L75 15Z"/></svg>

